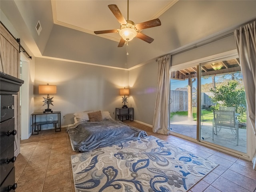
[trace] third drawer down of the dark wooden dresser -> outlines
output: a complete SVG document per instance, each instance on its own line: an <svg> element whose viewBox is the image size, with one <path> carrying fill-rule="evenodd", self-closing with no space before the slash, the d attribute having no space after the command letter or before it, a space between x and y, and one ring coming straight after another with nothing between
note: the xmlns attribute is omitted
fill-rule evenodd
<svg viewBox="0 0 256 192"><path fill-rule="evenodd" d="M14 157L14 143L12 143L4 152L1 151L1 156L0 156L0 173L1 173L0 183L3 182L4 178L6 178L6 176L10 172L10 170L12 170L15 160L16 160L16 157Z"/></svg>

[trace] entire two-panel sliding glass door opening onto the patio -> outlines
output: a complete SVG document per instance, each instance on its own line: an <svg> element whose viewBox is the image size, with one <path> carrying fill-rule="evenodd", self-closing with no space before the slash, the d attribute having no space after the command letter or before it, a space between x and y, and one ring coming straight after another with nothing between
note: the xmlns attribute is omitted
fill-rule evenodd
<svg viewBox="0 0 256 192"><path fill-rule="evenodd" d="M246 153L246 97L238 58L172 70L170 82L172 134Z"/></svg>

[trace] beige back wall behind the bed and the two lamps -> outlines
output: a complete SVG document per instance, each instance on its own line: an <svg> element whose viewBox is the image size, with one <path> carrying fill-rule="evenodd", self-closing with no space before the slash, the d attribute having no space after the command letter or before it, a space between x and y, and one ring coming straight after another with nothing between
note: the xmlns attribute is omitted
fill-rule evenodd
<svg viewBox="0 0 256 192"><path fill-rule="evenodd" d="M38 94L38 85L56 85L50 108L61 111L62 126L73 124L73 114L85 110L107 110L115 118L115 108L122 106L119 89L128 87L128 70L36 58L35 71L35 112L47 108L42 106L46 95Z"/></svg>

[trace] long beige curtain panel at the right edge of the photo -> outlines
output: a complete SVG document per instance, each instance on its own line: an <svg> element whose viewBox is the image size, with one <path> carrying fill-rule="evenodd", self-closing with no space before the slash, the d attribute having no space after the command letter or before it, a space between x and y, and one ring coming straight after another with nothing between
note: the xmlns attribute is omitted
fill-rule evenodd
<svg viewBox="0 0 256 192"><path fill-rule="evenodd" d="M241 26L240 29L234 31L236 47L238 56L240 58L240 64L242 74L244 78L247 110L249 114L249 122L253 130L247 130L254 133L256 137L255 116L256 116L256 21L245 26ZM256 139L252 144L253 147L253 168L256 170Z"/></svg>

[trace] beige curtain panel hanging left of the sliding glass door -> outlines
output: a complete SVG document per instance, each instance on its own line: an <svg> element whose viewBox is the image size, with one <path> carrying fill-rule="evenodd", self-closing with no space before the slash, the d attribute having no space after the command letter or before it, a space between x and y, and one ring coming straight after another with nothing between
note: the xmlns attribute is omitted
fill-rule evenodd
<svg viewBox="0 0 256 192"><path fill-rule="evenodd" d="M170 130L170 64L170 55L158 58L158 85L152 131L165 135Z"/></svg>

